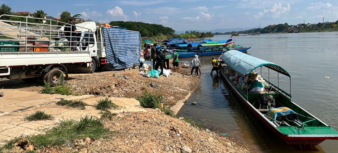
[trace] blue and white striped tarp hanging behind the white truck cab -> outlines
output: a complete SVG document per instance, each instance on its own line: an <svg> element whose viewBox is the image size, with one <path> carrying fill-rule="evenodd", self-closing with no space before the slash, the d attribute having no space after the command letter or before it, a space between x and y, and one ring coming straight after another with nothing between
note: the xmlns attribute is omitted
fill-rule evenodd
<svg viewBox="0 0 338 153"><path fill-rule="evenodd" d="M139 66L141 55L141 34L130 31L103 27L104 43L107 56L107 70L127 69Z"/></svg>

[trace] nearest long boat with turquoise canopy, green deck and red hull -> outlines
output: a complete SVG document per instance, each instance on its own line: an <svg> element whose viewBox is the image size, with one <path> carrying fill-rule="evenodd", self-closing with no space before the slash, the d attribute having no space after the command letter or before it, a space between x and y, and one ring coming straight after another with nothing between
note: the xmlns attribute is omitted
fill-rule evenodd
<svg viewBox="0 0 338 153"><path fill-rule="evenodd" d="M335 129L291 100L291 76L283 67L236 50L223 53L219 59L221 62L219 71L227 86L230 87L230 91L241 104L244 104L287 144L299 145L302 148L306 145L311 147L318 145L325 139L338 140L338 132ZM250 92L250 79L257 75L253 72L263 67L268 68L268 79L258 79L263 86L254 89L261 91L254 92L253 89L253 92ZM279 80L278 85L269 82L270 70L277 72L278 79L281 74L290 78L290 93L279 88ZM232 81L234 75L241 76L238 79L240 83L236 84L236 81Z"/></svg>

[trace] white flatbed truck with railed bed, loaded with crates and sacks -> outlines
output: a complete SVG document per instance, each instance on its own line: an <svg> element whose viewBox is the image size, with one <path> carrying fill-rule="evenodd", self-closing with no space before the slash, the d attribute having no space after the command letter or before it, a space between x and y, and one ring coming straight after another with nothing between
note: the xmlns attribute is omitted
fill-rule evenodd
<svg viewBox="0 0 338 153"><path fill-rule="evenodd" d="M4 16L12 20L1 20ZM29 22L33 20L46 21ZM106 64L102 28L95 22L83 22L76 24L77 35L65 36L67 26L71 27L51 19L1 15L0 78L42 79L55 86L68 79L68 71L93 73L102 68ZM77 46L70 46L71 37L76 38Z"/></svg>

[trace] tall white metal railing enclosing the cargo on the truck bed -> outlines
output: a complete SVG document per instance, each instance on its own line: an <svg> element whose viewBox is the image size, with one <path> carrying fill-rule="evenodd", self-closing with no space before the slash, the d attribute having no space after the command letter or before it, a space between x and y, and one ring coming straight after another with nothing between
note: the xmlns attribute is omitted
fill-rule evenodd
<svg viewBox="0 0 338 153"><path fill-rule="evenodd" d="M9 19L4 20L4 17ZM89 51L89 48L94 47L92 45L95 43L94 32L89 28L76 26L82 31L77 31L77 34L74 34L74 31L64 31L65 27L72 25L51 19L1 15L0 21L2 36L0 38L0 53L72 51L72 47L73 50L76 48L75 51ZM66 32L70 34L65 35ZM88 37L83 37L84 33L88 33ZM81 37L82 40L80 40ZM72 46L74 42L76 42L76 46Z"/></svg>

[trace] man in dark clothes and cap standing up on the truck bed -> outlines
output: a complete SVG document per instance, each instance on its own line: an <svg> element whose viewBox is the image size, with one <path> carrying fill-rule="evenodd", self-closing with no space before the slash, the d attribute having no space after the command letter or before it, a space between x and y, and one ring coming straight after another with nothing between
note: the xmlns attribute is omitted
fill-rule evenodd
<svg viewBox="0 0 338 153"><path fill-rule="evenodd" d="M69 22L68 24L66 24L64 33L65 36L67 36L67 40L70 41L70 45L72 46L72 51L76 51L77 50L77 38L73 37L77 35L77 31L76 31L76 26L74 24L75 22L75 18L74 17L70 17L69 18Z"/></svg>

